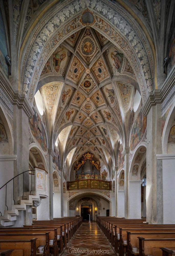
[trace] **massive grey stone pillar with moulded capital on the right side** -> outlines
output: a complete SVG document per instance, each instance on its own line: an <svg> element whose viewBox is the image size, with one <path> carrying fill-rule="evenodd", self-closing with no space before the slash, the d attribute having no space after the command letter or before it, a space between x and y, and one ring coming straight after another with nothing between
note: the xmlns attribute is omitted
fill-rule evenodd
<svg viewBox="0 0 175 256"><path fill-rule="evenodd" d="M162 153L161 98L159 90L150 93L142 111L147 116L146 217L147 222L150 224L162 224L162 160L157 160L156 158L157 154Z"/></svg>

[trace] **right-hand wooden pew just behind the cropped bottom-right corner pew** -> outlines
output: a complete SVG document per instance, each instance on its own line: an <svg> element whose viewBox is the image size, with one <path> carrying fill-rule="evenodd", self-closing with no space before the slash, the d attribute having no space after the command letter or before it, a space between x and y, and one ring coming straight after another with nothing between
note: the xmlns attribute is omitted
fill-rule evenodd
<svg viewBox="0 0 175 256"><path fill-rule="evenodd" d="M175 249L175 238L143 238L139 239L139 256L155 255L162 256L160 248L168 247L170 250Z"/></svg>

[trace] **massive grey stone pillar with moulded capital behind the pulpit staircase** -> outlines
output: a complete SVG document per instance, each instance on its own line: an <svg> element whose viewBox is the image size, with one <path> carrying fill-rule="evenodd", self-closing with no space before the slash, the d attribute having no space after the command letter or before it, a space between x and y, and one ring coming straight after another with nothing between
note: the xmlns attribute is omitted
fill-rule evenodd
<svg viewBox="0 0 175 256"><path fill-rule="evenodd" d="M18 92L14 95L13 101L13 135L14 135L14 176L29 169L29 118L34 111L25 95ZM14 180L15 203L19 196L23 195L23 175ZM24 191L29 191L29 172L24 174Z"/></svg>

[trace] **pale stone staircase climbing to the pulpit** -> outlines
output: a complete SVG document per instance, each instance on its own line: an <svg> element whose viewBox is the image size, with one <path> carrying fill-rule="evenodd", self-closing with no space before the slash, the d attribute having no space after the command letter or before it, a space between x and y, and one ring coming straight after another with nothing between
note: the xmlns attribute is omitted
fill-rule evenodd
<svg viewBox="0 0 175 256"><path fill-rule="evenodd" d="M17 205L12 205L11 210L4 210L4 216L0 216L0 227L12 226L19 216L19 211L25 211L27 205L33 205L33 201L39 201L40 195L36 193L35 195L24 195L24 199L19 197Z"/></svg>

